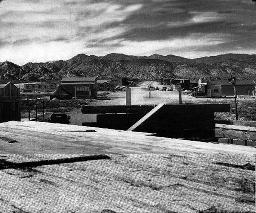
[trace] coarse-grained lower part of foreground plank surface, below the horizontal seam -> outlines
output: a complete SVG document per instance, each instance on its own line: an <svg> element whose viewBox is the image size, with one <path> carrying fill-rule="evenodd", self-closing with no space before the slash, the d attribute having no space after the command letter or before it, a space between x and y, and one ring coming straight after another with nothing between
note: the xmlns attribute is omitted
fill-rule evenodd
<svg viewBox="0 0 256 213"><path fill-rule="evenodd" d="M18 163L68 156L77 155L0 159ZM242 168L255 166L252 155L177 152L110 157L1 170L0 212L255 212L255 171Z"/></svg>

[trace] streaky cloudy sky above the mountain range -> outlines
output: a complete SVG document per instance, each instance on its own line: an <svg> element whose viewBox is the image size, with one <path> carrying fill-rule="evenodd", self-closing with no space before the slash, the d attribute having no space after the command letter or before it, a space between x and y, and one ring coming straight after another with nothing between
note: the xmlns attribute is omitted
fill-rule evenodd
<svg viewBox="0 0 256 213"><path fill-rule="evenodd" d="M256 54L252 0L0 0L0 62Z"/></svg>

